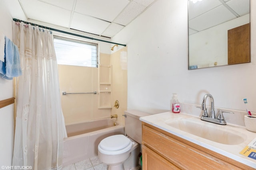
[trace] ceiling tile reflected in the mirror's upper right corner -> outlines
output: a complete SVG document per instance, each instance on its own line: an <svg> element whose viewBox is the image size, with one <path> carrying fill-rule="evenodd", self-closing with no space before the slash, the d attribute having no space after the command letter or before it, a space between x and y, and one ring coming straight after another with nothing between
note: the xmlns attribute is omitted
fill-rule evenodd
<svg viewBox="0 0 256 170"><path fill-rule="evenodd" d="M231 0L227 2L228 6L232 8L239 16L249 14L250 0Z"/></svg>

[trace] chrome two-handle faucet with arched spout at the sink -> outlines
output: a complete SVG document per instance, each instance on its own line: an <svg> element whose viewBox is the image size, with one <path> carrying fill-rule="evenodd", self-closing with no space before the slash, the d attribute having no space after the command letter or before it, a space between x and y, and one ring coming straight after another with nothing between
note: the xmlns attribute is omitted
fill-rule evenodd
<svg viewBox="0 0 256 170"><path fill-rule="evenodd" d="M210 100L211 100L210 115L208 115L208 113L207 113L207 108L206 108L206 104L205 104L206 99L208 97L210 97ZM215 111L214 111L214 100L213 100L213 97L212 97L211 94L204 95L204 98L202 100L201 110L203 110L201 120L209 121L209 122L212 122L212 123L217 123L217 124L220 124L220 125L226 125L227 124L226 120L224 119L223 113L233 113L233 112L227 112L227 111L219 110L218 116L216 118Z"/></svg>

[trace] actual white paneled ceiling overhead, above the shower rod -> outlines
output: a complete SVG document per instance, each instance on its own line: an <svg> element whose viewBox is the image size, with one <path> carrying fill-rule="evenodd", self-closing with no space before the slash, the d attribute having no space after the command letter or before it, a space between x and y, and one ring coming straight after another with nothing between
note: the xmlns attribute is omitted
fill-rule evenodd
<svg viewBox="0 0 256 170"><path fill-rule="evenodd" d="M18 0L27 19L113 37L156 0Z"/></svg>

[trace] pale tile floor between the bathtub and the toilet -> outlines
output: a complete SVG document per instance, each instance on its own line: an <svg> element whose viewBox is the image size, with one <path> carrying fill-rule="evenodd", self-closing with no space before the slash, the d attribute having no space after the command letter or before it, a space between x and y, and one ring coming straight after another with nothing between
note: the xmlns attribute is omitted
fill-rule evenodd
<svg viewBox="0 0 256 170"><path fill-rule="evenodd" d="M65 166L62 170L107 170L107 164L102 163L98 156L95 156L87 160L82 160Z"/></svg>

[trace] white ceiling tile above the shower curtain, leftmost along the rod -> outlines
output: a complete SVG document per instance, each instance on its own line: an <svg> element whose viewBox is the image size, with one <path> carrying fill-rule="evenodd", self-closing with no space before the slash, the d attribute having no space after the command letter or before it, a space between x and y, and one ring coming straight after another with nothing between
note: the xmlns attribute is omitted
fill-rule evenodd
<svg viewBox="0 0 256 170"><path fill-rule="evenodd" d="M44 2L21 0L28 19L68 27L71 12Z"/></svg>

